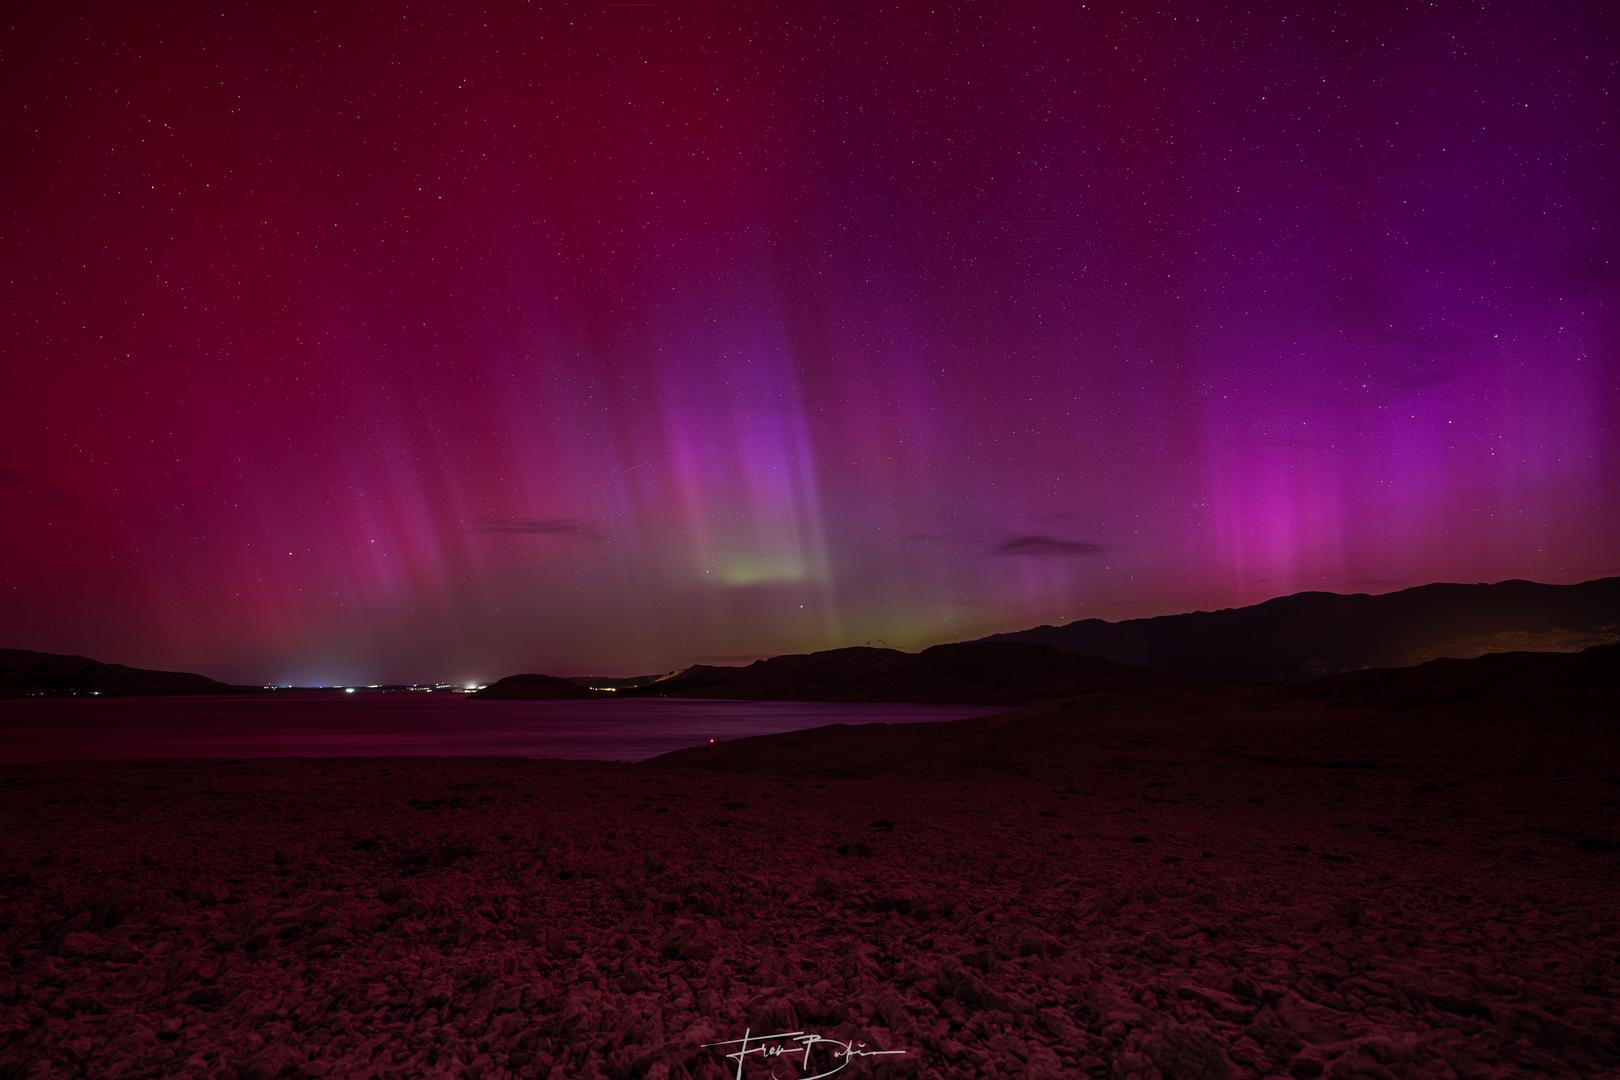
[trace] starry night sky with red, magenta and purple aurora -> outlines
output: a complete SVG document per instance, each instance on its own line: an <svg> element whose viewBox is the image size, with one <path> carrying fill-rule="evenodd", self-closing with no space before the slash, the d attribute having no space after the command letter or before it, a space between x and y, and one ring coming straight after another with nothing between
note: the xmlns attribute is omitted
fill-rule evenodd
<svg viewBox="0 0 1620 1080"><path fill-rule="evenodd" d="M635 674L1620 572L1615 8L1257 6L10 11L0 644Z"/></svg>

